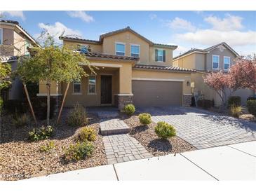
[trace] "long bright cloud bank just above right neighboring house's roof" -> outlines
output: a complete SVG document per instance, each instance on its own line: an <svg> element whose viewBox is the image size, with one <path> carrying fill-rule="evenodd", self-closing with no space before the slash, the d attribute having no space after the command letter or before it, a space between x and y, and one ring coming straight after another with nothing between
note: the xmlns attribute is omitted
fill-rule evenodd
<svg viewBox="0 0 256 192"><path fill-rule="evenodd" d="M198 29L196 32L176 34L177 39L189 43L200 43L202 45L215 45L225 41L230 46L244 46L256 44L256 32L229 31L222 32L215 29Z"/></svg>

